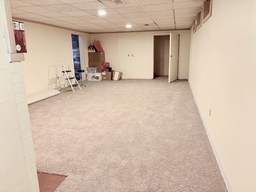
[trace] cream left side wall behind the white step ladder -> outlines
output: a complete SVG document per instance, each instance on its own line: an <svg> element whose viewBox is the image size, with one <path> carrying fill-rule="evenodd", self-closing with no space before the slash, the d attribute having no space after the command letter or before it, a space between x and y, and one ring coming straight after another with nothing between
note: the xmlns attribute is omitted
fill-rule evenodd
<svg viewBox="0 0 256 192"><path fill-rule="evenodd" d="M60 60L67 60L74 72L71 34L83 36L85 63L88 63L90 34L27 21L24 26L28 52L22 66L27 96L55 89L56 77L61 72Z"/></svg>

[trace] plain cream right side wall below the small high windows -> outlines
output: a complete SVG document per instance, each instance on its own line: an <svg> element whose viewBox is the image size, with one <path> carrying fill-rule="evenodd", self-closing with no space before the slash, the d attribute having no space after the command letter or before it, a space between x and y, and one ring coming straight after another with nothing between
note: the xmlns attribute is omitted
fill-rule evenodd
<svg viewBox="0 0 256 192"><path fill-rule="evenodd" d="M212 16L190 37L188 81L235 192L256 191L255 8L252 0L213 0Z"/></svg>

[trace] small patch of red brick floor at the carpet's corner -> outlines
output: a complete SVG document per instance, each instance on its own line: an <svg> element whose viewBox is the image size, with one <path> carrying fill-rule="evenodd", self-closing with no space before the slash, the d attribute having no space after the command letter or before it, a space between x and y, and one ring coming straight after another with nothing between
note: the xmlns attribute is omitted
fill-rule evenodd
<svg viewBox="0 0 256 192"><path fill-rule="evenodd" d="M37 172L40 192L54 192L66 176Z"/></svg>

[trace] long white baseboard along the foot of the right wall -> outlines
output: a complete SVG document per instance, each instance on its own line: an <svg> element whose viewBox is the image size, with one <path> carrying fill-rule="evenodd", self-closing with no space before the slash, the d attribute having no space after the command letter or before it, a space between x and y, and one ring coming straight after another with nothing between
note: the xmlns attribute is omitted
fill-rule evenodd
<svg viewBox="0 0 256 192"><path fill-rule="evenodd" d="M190 86L190 85L189 85L189 86ZM232 185L231 185L231 183L230 183L230 180L229 180L229 178L228 178L228 175L227 175L227 173L226 173L226 170L225 170L225 168L224 168L224 166L223 166L223 164L222 164L222 162L221 162L221 159L220 159L220 156L219 156L219 154L218 154L218 151L217 151L217 149L216 149L216 147L215 147L215 145L214 145L214 142L213 142L213 140L212 140L211 134L210 134L210 132L209 132L209 130L208 130L208 127L207 127L207 125L206 125L206 122L205 122L205 120L204 120L204 116L203 116L203 114L202 114L202 112L201 112L201 110L200 110L200 107L199 107L199 105L198 105L198 102L197 102L197 100L196 100L196 97L195 97L195 95L194 95L194 92L193 92L191 86L190 86L190 90L191 90L191 92L192 92L192 94L193 94L193 97L194 97L194 100L195 100L195 102L196 102L196 106L197 106L197 108L198 108L199 114L200 114L201 119L202 119L202 122L203 122L203 124L204 124L204 128L205 128L205 130L206 130L207 136L208 136L209 141L210 141L210 144L211 144L211 146L212 146L212 150L213 150L214 155L215 155L215 157L216 157L216 160L217 160L217 163L218 163L218 165L219 165L220 172L221 172L221 174L222 174L222 177L223 177L223 179L224 179L224 182L225 182L225 184L226 184L226 187L227 187L227 189L228 189L229 192L234 192L234 190L233 190L233 188L232 188Z"/></svg>

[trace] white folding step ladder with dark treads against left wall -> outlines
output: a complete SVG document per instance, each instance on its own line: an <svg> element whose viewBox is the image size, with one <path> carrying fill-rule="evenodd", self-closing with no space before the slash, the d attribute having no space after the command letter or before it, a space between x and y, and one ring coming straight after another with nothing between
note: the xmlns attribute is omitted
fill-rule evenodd
<svg viewBox="0 0 256 192"><path fill-rule="evenodd" d="M78 81L76 80L75 75L74 75L74 73L72 72L72 70L71 70L70 65L68 64L68 62L67 62L66 60L61 60L60 63L61 63L61 65L62 65L62 71L61 71L61 73L60 73L60 76L58 76L58 80L57 80L55 89L56 89L56 90L57 90L58 88L61 89L61 86L62 86L62 85L64 85L64 88L65 88L66 83L67 83L67 85L72 88L73 92L75 92L75 91L74 91L74 88L73 88L73 87L75 87L75 86L78 86L78 87L80 88L80 90L82 90L81 87L80 87L80 85L79 85L79 83L78 83ZM68 65L68 70L65 70L65 68L64 68L64 63L66 63L66 64ZM72 76L68 76L69 73L70 73ZM60 84L60 77L61 77L62 74L63 74L63 76L65 77L65 83L64 83L64 84ZM72 84L70 80L71 80L71 81L75 80L76 83L75 83L75 84ZM63 88L63 89L64 89L64 88Z"/></svg>

